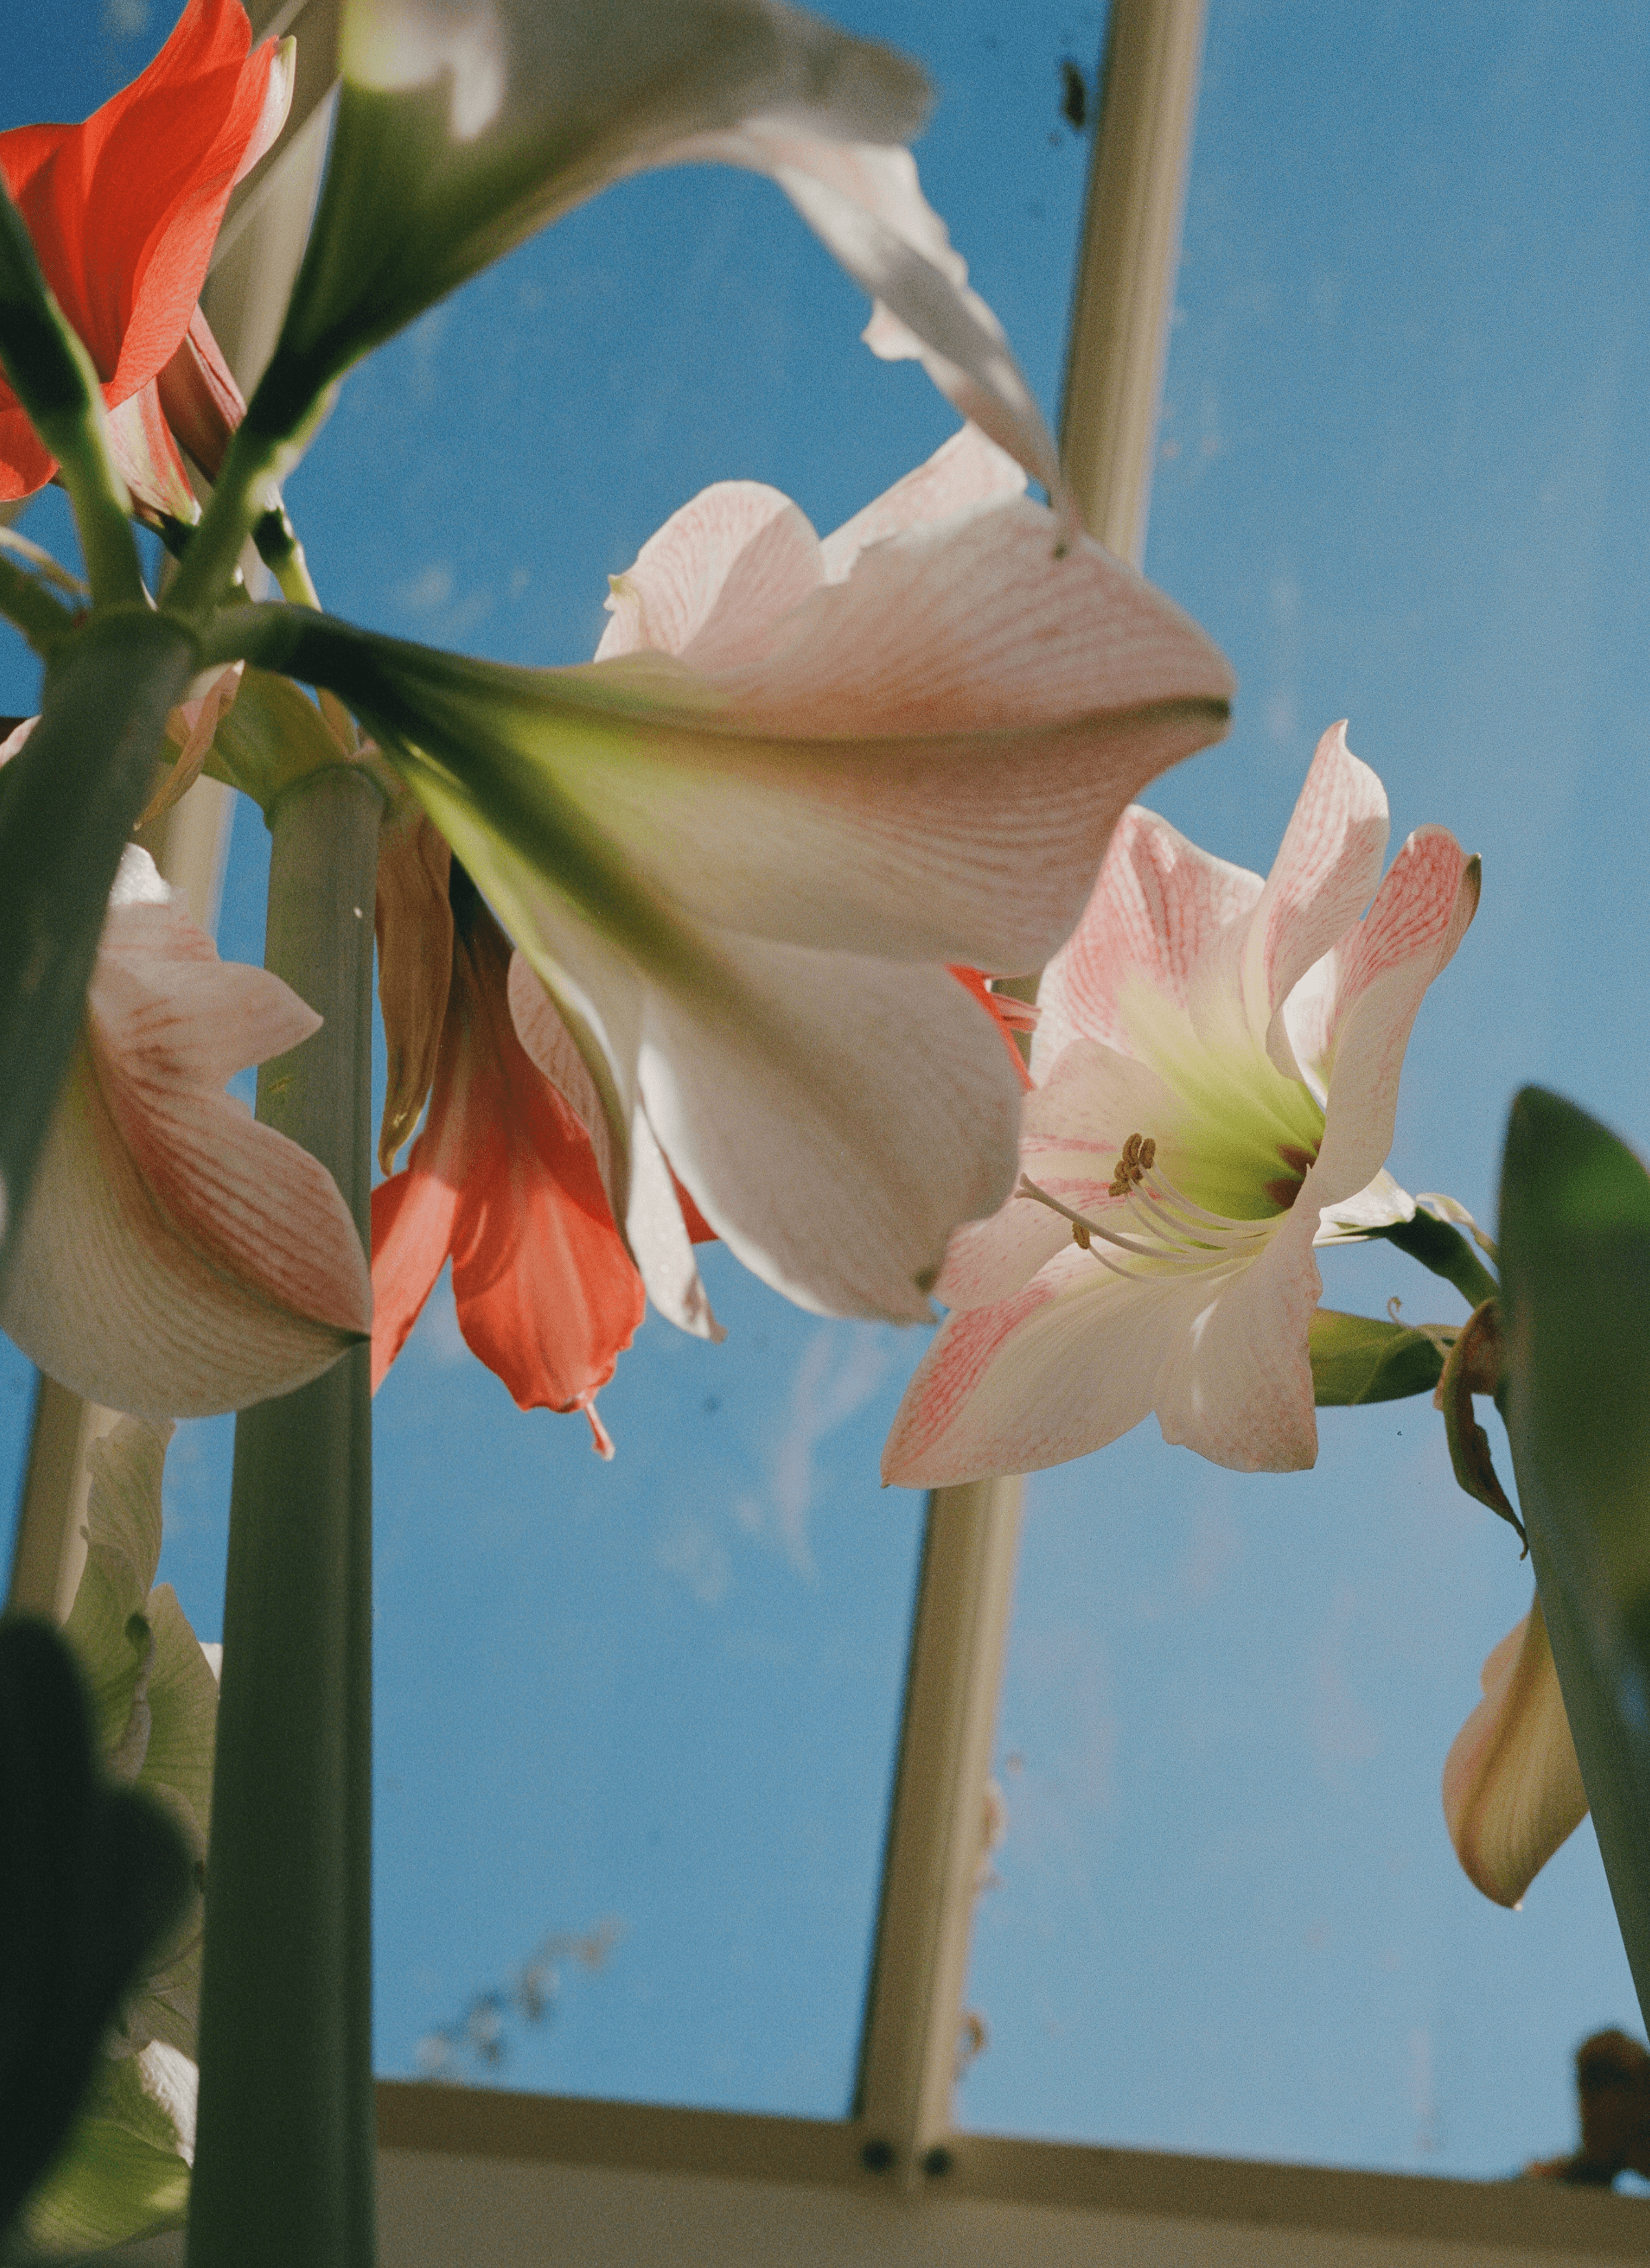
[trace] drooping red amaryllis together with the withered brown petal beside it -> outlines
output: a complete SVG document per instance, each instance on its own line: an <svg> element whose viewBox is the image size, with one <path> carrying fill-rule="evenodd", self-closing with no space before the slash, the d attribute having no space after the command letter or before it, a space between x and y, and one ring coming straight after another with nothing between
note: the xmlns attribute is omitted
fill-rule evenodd
<svg viewBox="0 0 1650 2268"><path fill-rule="evenodd" d="M406 1170L372 1191L372 1386L377 1388L452 1254L468 1345L520 1408L583 1411L604 1456L595 1397L642 1320L642 1279L613 1225L590 1134L515 1036L511 943L427 821L386 835L379 866L390 1105L384 1150L429 1120ZM431 923L445 885L452 925ZM411 919L422 907L424 921ZM447 948L447 937L452 946ZM436 964L447 955L449 975ZM438 998L445 987L445 1009ZM431 1016L438 1009L438 1016ZM433 1077L427 1059L438 1030Z"/></svg>

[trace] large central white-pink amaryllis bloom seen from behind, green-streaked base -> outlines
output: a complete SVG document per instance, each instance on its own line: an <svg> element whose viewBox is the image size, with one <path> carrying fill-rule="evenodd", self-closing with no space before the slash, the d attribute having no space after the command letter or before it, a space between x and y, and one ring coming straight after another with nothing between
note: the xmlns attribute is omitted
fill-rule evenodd
<svg viewBox="0 0 1650 2268"><path fill-rule="evenodd" d="M1226 726L1210 640L1021 488L965 429L824 544L772 488L706 490L583 669L340 655L291 617L531 962L522 1043L692 1329L665 1159L788 1297L928 1320L1021 1095L949 964L1053 953L1128 798Z"/></svg>

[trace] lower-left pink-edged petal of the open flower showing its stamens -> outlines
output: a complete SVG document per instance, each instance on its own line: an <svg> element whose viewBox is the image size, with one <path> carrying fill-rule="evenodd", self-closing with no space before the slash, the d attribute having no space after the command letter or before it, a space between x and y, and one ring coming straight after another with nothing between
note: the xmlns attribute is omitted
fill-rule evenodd
<svg viewBox="0 0 1650 2268"><path fill-rule="evenodd" d="M883 1479L949 1488L1103 1449L1153 1406L1207 1288L1108 1275L1067 1245L1024 1290L946 1318L899 1404Z"/></svg>

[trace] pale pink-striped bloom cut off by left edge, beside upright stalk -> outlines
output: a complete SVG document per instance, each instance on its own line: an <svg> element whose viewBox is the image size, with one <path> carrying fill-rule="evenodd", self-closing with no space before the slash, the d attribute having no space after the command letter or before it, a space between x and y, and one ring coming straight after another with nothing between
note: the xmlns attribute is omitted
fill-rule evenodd
<svg viewBox="0 0 1650 2268"><path fill-rule="evenodd" d="M338 1186L222 1091L318 1027L279 978L220 962L127 848L0 1288L0 1327L48 1377L136 1417L207 1417L304 1386L365 1336Z"/></svg>

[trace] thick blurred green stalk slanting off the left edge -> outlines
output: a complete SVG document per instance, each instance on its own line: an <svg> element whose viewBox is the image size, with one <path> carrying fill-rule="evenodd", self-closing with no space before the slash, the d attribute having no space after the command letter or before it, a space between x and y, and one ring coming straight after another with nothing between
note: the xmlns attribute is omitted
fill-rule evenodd
<svg viewBox="0 0 1650 2268"><path fill-rule="evenodd" d="M197 667L195 640L166 615L89 617L48 669L41 721L0 771L0 1266L79 1041L166 714Z"/></svg>

